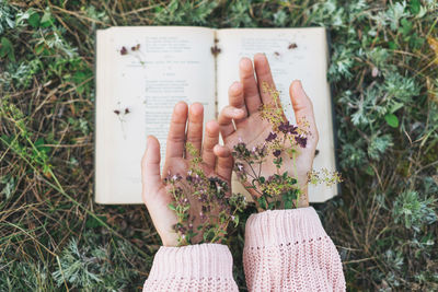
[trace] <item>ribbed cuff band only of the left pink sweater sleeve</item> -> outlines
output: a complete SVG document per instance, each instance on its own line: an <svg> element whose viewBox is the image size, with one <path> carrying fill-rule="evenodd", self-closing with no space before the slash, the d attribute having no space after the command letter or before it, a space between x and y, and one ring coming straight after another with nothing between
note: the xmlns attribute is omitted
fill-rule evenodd
<svg viewBox="0 0 438 292"><path fill-rule="evenodd" d="M222 244L161 246L153 258L148 281L175 278L232 280L232 256L228 246Z"/></svg>

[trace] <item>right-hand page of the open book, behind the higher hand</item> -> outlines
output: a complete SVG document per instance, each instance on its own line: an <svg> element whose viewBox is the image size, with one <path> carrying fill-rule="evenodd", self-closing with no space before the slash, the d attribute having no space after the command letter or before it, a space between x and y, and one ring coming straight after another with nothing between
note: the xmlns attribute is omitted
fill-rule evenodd
<svg viewBox="0 0 438 292"><path fill-rule="evenodd" d="M314 170L335 171L332 102L326 81L327 44L325 30L309 28L230 28L218 30L217 94L218 110L228 105L228 89L239 81L239 61L264 52L288 119L296 124L289 97L295 79L302 82L312 100L320 141ZM233 184L235 185L235 184ZM309 186L310 201L325 201L336 195L336 186Z"/></svg>

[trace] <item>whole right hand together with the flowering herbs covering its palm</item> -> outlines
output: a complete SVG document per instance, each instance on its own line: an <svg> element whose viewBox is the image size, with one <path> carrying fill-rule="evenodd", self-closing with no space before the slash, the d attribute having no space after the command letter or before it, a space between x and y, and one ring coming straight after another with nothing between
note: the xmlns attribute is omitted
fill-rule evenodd
<svg viewBox="0 0 438 292"><path fill-rule="evenodd" d="M308 207L309 183L331 185L341 182L341 175L312 171L319 133L301 82L289 87L297 119L292 125L263 54L254 56L254 67L251 59L242 58L241 82L230 86L229 106L219 115L224 145L232 149L233 170L258 211Z"/></svg>

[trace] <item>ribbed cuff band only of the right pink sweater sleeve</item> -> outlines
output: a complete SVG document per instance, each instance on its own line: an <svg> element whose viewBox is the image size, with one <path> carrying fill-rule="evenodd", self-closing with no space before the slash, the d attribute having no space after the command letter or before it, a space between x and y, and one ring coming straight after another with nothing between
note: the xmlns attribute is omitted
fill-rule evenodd
<svg viewBox="0 0 438 292"><path fill-rule="evenodd" d="M246 221L245 247L277 246L327 236L313 207L264 211Z"/></svg>

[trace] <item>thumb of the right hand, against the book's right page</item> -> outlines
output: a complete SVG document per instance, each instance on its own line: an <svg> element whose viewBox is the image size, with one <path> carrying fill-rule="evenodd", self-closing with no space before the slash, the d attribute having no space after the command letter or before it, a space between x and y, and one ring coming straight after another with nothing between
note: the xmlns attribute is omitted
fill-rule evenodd
<svg viewBox="0 0 438 292"><path fill-rule="evenodd" d="M313 147L316 147L319 133L313 114L313 104L302 89L301 81L292 81L289 86L289 94L297 124L301 127L309 128L310 135L308 136L308 141L311 142Z"/></svg>

